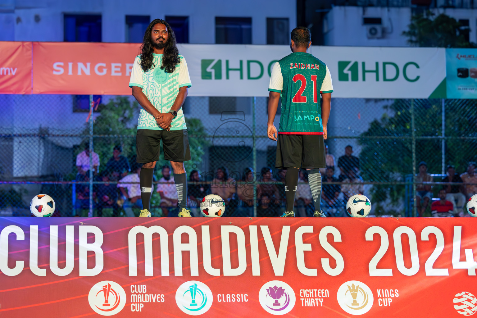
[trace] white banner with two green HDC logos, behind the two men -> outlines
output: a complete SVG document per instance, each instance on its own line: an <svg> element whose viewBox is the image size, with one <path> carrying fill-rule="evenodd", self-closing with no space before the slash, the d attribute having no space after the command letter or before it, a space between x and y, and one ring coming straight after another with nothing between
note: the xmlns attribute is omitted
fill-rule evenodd
<svg viewBox="0 0 477 318"><path fill-rule="evenodd" d="M190 96L266 97L273 62L291 52L286 45L178 47L189 68ZM445 98L445 49L313 46L309 52L328 65L333 97Z"/></svg>

